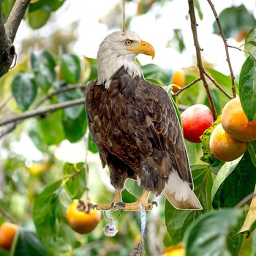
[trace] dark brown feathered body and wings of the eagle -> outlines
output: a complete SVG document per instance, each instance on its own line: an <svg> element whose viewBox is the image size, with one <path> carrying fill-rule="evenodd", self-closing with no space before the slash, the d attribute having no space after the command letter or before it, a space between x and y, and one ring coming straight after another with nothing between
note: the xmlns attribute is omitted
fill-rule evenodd
<svg viewBox="0 0 256 256"><path fill-rule="evenodd" d="M86 89L89 129L113 187L127 178L160 195L171 172L193 189L187 150L173 103L161 87L118 69L105 89L97 81Z"/></svg>

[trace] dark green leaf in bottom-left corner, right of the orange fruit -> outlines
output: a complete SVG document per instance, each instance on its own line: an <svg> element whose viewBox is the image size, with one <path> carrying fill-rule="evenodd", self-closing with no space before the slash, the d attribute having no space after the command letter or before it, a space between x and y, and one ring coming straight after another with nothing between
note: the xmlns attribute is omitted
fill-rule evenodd
<svg viewBox="0 0 256 256"><path fill-rule="evenodd" d="M36 233L20 227L15 238L15 247L12 248L12 256L46 256L46 247L39 240Z"/></svg>

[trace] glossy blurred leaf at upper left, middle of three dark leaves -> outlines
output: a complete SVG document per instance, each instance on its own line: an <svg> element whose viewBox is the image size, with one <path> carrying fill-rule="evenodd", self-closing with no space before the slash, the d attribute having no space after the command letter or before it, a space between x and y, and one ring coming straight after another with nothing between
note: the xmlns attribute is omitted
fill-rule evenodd
<svg viewBox="0 0 256 256"><path fill-rule="evenodd" d="M56 62L48 50L32 51L31 67L37 84L44 91L48 91L56 79Z"/></svg>

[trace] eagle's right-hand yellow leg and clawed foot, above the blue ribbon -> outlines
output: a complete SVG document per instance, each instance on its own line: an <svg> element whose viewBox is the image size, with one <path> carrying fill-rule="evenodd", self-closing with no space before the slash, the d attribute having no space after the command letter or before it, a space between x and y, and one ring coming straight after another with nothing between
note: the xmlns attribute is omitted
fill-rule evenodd
<svg viewBox="0 0 256 256"><path fill-rule="evenodd" d="M124 203L119 202L115 203L115 206L117 208L121 208L123 211L140 211L140 205L142 204L145 207L146 211L151 211L153 209L153 206L157 206L157 202L153 201L151 203L148 203L148 190L143 190L140 199L137 202L134 203Z"/></svg>

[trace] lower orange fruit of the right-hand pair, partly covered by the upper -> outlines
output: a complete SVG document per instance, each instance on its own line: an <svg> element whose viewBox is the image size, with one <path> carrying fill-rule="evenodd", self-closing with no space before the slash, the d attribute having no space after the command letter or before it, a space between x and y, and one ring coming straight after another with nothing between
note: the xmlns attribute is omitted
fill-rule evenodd
<svg viewBox="0 0 256 256"><path fill-rule="evenodd" d="M228 135L223 129L222 124L218 124L211 133L209 145L211 154L220 161L225 162L241 157L247 149L247 143L236 140Z"/></svg>

